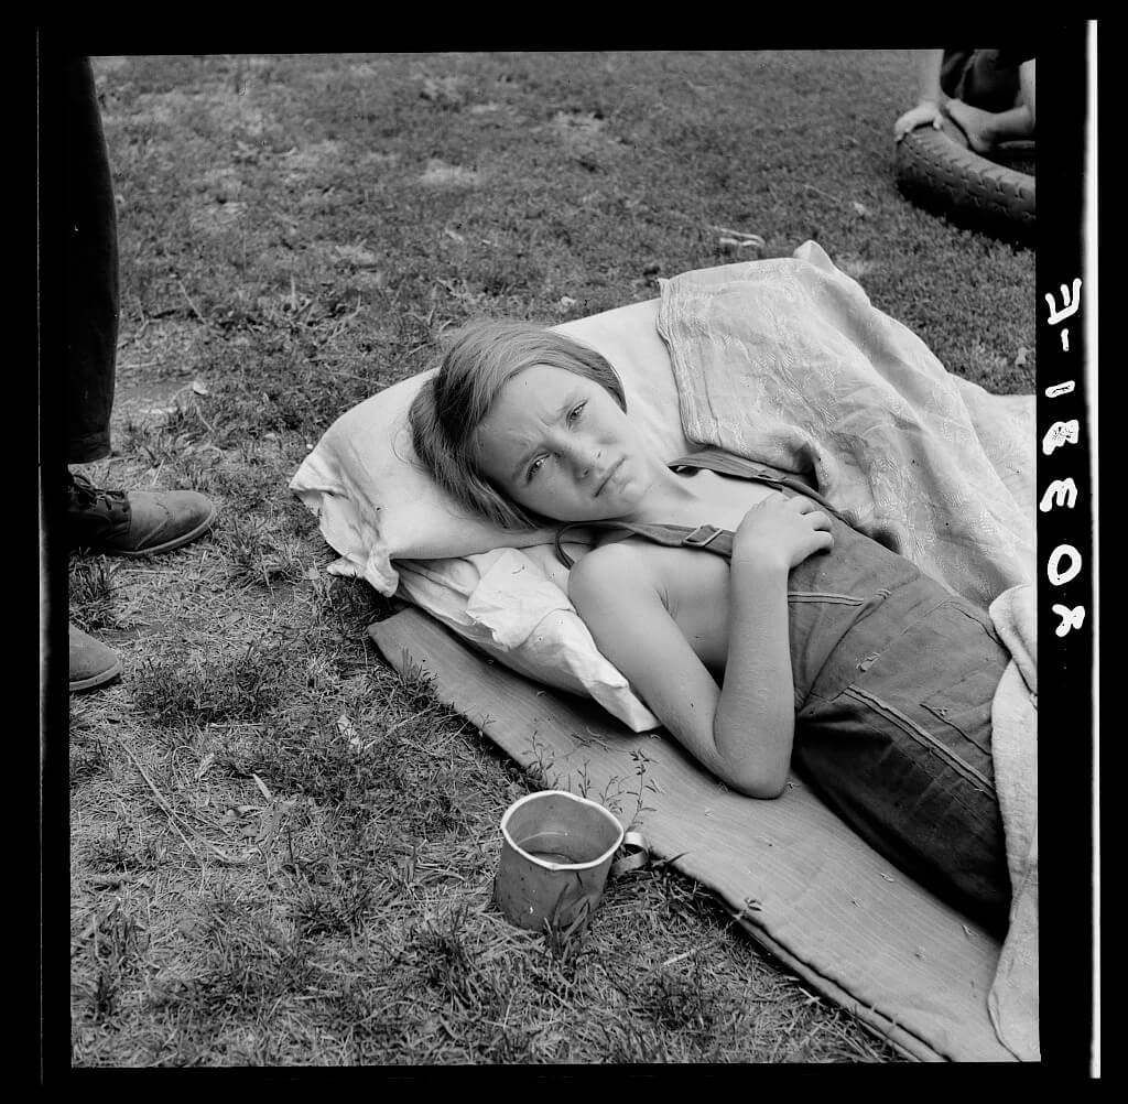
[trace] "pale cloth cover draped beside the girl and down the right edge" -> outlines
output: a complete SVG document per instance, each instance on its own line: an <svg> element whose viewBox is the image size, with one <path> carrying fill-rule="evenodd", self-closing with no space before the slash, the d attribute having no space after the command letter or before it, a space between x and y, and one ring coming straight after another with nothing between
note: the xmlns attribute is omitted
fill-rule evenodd
<svg viewBox="0 0 1128 1104"><path fill-rule="evenodd" d="M1013 904L988 1005L1037 1061L1033 396L950 374L813 241L664 281L658 325L690 440L813 475L856 528L990 609L1013 657L992 710Z"/></svg>

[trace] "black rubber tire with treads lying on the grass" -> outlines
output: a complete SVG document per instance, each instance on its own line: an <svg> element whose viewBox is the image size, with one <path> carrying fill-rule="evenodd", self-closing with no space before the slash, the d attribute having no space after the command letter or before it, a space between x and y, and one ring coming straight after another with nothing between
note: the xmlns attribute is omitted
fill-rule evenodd
<svg viewBox="0 0 1128 1104"><path fill-rule="evenodd" d="M922 126L897 143L897 184L918 206L994 237L1032 244L1034 177Z"/></svg>

